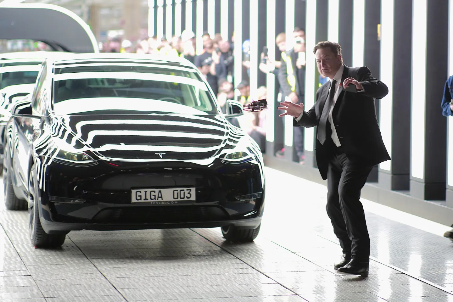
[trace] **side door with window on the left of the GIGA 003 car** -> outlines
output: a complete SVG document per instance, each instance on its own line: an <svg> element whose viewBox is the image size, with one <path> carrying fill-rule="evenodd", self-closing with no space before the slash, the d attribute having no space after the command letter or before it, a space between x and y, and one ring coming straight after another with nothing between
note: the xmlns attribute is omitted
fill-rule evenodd
<svg viewBox="0 0 453 302"><path fill-rule="evenodd" d="M47 64L43 64L31 96L31 115L15 117L15 137L13 167L15 179L13 183L26 194L28 191L29 162L32 143L40 134L42 107L51 92L48 81ZM12 177L14 178L14 177Z"/></svg>

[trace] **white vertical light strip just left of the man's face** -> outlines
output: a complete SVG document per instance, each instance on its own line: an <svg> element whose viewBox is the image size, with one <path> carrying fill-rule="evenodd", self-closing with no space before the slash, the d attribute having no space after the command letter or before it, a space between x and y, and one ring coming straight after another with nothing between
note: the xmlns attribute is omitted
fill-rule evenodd
<svg viewBox="0 0 453 302"><path fill-rule="evenodd" d="M306 1L306 4L305 45L308 51L306 53L307 62L305 63L305 74L307 75L305 77L305 110L308 111L313 107L316 98L315 83L317 79L315 78L315 72L317 67L313 51L311 51L316 45L316 1ZM313 151L314 128L305 128L304 131L304 149Z"/></svg>

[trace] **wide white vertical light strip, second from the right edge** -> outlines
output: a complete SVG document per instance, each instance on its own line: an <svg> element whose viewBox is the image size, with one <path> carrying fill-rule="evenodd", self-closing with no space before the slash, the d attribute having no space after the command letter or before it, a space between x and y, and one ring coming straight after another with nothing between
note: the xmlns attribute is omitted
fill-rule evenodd
<svg viewBox="0 0 453 302"><path fill-rule="evenodd" d="M427 0L413 0L412 2L412 108L410 120L410 168L412 177L421 179L424 178L427 27L426 1Z"/></svg>

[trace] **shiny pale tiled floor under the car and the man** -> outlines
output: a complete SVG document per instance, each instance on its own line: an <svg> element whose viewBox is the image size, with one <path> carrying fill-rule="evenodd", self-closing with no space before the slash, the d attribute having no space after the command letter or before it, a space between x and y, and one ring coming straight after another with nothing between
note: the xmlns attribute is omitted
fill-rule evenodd
<svg viewBox="0 0 453 302"><path fill-rule="evenodd" d="M0 201L0 302L453 302L448 226L363 201L370 276L338 275L326 188L265 172L265 216L248 244L218 228L77 231L62 249L34 249L27 213Z"/></svg>

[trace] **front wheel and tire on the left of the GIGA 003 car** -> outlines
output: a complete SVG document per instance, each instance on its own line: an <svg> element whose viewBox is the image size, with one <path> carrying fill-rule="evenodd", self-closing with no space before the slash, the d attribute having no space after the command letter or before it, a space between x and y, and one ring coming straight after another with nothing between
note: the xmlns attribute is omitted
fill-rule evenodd
<svg viewBox="0 0 453 302"><path fill-rule="evenodd" d="M63 245L66 239L66 234L47 234L39 220L39 209L35 206L37 198L38 185L36 183L36 173L34 165L31 168L29 175L29 231L30 240L36 248L58 248Z"/></svg>

